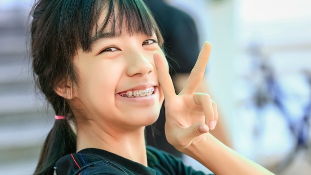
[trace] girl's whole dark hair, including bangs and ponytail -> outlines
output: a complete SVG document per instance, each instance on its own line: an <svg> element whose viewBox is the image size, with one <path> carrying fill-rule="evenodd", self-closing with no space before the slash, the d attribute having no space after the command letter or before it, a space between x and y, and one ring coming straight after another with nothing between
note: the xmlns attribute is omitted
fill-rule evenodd
<svg viewBox="0 0 311 175"><path fill-rule="evenodd" d="M107 16L100 24L98 19L103 8L107 9ZM64 82L69 82L71 87L78 84L73 65L77 49L90 51L92 39L100 35L108 23L115 35L122 30L146 35L155 32L161 47L163 38L142 0L36 0L30 14L33 17L30 51L36 85L55 113L67 116L67 119L55 120L35 171L35 174L53 174L56 161L76 151L76 135L70 125L75 121L71 106L54 88Z"/></svg>

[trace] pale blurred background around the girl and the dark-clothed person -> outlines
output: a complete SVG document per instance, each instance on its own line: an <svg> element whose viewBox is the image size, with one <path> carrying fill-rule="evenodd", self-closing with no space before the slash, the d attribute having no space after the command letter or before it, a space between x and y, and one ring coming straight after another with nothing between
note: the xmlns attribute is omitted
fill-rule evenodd
<svg viewBox="0 0 311 175"><path fill-rule="evenodd" d="M311 174L311 1L167 2L195 19L200 45L213 45L207 77L233 148L276 174ZM31 4L0 0L2 174L33 173L54 120L29 69Z"/></svg>

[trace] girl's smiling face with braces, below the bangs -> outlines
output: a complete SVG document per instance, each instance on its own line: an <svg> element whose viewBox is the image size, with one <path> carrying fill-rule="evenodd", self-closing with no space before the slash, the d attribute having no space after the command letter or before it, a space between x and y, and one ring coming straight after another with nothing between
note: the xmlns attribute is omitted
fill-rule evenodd
<svg viewBox="0 0 311 175"><path fill-rule="evenodd" d="M79 75L75 106L98 124L127 128L153 123L164 100L153 61L153 52L162 52L157 36L100 36L90 52L79 49L74 58Z"/></svg>

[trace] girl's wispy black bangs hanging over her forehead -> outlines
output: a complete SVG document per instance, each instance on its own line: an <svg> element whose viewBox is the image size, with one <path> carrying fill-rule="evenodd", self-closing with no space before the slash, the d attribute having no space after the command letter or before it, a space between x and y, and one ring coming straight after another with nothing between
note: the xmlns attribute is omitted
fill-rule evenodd
<svg viewBox="0 0 311 175"><path fill-rule="evenodd" d="M156 34L159 45L163 46L160 29L142 0L84 1L79 29L80 44L84 51L90 51L91 44L101 38L103 32L112 33L113 36L119 36L124 32L130 35L138 32L150 36ZM104 19L100 19L102 14L106 15Z"/></svg>

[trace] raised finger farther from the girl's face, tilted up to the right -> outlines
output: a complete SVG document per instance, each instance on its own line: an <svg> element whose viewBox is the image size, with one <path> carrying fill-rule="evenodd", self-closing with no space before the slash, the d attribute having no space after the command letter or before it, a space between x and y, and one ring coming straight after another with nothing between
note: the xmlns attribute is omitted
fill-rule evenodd
<svg viewBox="0 0 311 175"><path fill-rule="evenodd" d="M211 53L211 47L211 43L207 41L203 44L197 62L191 70L185 87L181 91L182 94L187 92L193 93L203 79L206 64L209 60L209 56Z"/></svg>

